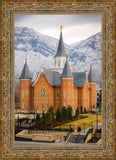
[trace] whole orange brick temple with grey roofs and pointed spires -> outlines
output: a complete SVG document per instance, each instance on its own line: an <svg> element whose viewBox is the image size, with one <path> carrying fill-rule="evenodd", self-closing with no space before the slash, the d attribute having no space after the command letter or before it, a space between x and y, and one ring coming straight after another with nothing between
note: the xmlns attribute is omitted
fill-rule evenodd
<svg viewBox="0 0 116 160"><path fill-rule="evenodd" d="M20 108L22 112L35 111L42 113L53 106L54 111L59 107L71 106L73 112L78 107L96 108L96 82L90 66L87 72L73 72L70 69L68 55L65 52L62 26L56 55L55 66L42 69L32 81L30 71L25 64L20 76Z"/></svg>

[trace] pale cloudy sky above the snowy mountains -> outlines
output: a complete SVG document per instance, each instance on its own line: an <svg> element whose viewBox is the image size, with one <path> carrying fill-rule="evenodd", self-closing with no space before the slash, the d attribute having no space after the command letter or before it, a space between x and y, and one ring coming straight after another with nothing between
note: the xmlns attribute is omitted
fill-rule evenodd
<svg viewBox="0 0 116 160"><path fill-rule="evenodd" d="M30 27L57 39L61 25L64 42L73 44L101 32L101 15L15 15L15 26Z"/></svg>

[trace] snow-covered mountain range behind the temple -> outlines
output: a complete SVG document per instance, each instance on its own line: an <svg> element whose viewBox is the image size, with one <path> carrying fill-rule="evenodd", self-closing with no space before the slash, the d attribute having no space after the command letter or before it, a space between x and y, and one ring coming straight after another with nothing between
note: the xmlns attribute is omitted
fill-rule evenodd
<svg viewBox="0 0 116 160"><path fill-rule="evenodd" d="M31 28L15 28L15 80L19 81L27 57L32 76L40 71L41 67L54 66L54 55L57 51L58 39L43 35ZM65 42L65 40L64 40ZM89 71L92 64L97 83L101 82L101 33L88 39L65 44L66 53L73 71Z"/></svg>

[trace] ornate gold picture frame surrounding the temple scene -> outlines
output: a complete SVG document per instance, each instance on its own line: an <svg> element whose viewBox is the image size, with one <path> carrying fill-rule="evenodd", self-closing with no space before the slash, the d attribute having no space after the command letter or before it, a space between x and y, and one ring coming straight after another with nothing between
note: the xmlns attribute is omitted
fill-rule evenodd
<svg viewBox="0 0 116 160"><path fill-rule="evenodd" d="M2 1L0 155L15 158L114 159L114 2ZM14 16L15 14L101 14L102 16L102 145L14 145Z"/></svg>

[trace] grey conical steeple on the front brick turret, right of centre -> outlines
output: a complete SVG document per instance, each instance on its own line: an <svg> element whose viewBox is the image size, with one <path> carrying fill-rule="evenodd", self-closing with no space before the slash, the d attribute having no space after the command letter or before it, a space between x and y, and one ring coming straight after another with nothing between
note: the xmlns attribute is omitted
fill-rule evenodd
<svg viewBox="0 0 116 160"><path fill-rule="evenodd" d="M66 63L65 63L61 78L73 78L72 72L70 70L69 62L68 62L68 56L66 56Z"/></svg>

